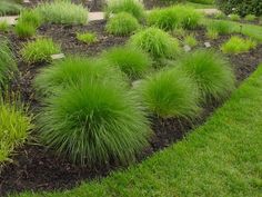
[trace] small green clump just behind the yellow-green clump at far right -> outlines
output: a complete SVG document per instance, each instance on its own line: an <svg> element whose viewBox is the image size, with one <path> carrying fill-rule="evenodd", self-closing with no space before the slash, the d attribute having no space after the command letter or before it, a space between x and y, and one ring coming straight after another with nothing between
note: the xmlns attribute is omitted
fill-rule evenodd
<svg viewBox="0 0 262 197"><path fill-rule="evenodd" d="M212 21L208 24L208 31L218 35L228 35L232 32L231 24L228 21Z"/></svg>

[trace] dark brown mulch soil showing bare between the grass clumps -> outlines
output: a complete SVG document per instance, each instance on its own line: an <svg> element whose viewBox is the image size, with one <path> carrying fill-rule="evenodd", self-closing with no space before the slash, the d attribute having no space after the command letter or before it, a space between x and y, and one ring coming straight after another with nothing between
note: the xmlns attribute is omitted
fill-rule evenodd
<svg viewBox="0 0 262 197"><path fill-rule="evenodd" d="M39 35L51 37L54 41L61 43L62 51L67 53L81 53L94 56L105 50L109 47L123 45L127 37L113 37L104 32L105 21L93 21L90 24L80 26L57 26L47 24L39 28ZM77 41L75 32L92 31L98 35L99 41L97 43L87 46ZM204 47L204 42L209 41L211 46L219 50L221 43L230 38L230 36L222 36L216 40L209 40L203 29L194 31L199 41L198 47ZM32 79L40 68L46 67L47 63L38 63L28 66L21 61L19 50L27 40L20 40L13 33L6 35L12 42L13 51L19 61L20 73L12 81L12 88L21 92L21 99L30 104L31 110L37 111L40 107L38 98L32 88ZM259 62L262 61L262 46L246 53L238 56L229 55L238 83L248 78L255 69ZM203 124L208 117L221 105L221 102L210 102L206 105L200 116L195 120L185 119L161 119L151 117L152 129L155 132L151 139L151 146L145 148L141 155L138 156L138 161L151 156L154 151L163 149L171 144L181 140L192 128ZM36 130L32 131L32 135ZM66 158L57 156L52 150L46 149L36 141L28 141L24 147L21 147L12 156L13 162L7 164L0 176L0 196L14 191L23 190L52 190L52 189L69 189L79 185L82 180L104 177L114 169L125 168L111 161L107 166L97 166L95 168L81 167L72 165Z"/></svg>

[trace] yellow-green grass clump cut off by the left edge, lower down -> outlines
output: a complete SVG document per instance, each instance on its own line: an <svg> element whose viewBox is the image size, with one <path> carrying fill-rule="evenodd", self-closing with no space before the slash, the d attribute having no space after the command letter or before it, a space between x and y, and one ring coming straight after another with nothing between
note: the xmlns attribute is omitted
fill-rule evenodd
<svg viewBox="0 0 262 197"><path fill-rule="evenodd" d="M31 117L27 117L23 107L0 98L0 170L14 148L21 146L31 129Z"/></svg>

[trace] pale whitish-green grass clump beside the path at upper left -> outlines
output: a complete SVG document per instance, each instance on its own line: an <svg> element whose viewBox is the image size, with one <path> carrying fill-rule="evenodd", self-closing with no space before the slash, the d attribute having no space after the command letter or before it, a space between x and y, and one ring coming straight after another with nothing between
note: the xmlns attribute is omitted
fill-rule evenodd
<svg viewBox="0 0 262 197"><path fill-rule="evenodd" d="M53 1L41 3L36 9L46 22L62 24L85 24L88 10L82 4L70 1Z"/></svg>

